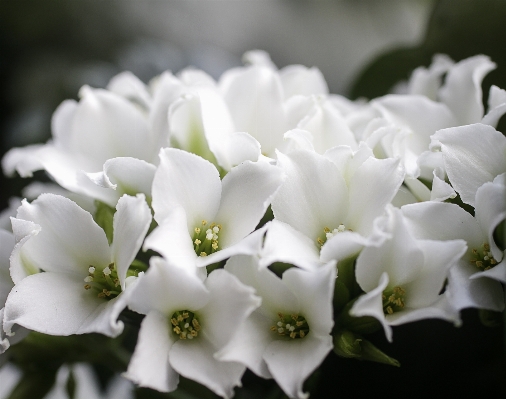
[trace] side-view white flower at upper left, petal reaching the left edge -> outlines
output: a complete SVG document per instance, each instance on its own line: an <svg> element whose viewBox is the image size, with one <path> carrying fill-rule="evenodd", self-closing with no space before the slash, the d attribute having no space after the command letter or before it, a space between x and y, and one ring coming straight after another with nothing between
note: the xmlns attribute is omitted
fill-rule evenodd
<svg viewBox="0 0 506 399"><path fill-rule="evenodd" d="M108 90L84 86L80 96L53 114L52 141L12 149L2 160L4 172L29 177L43 169L67 190L111 206L124 193L149 195L160 138L145 111Z"/></svg>

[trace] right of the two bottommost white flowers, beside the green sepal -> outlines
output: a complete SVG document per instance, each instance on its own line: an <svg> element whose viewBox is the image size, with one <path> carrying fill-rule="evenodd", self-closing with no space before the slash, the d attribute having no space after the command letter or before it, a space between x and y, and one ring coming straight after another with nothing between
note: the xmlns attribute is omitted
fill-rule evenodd
<svg viewBox="0 0 506 399"><path fill-rule="evenodd" d="M332 349L335 263L314 271L291 268L278 278L255 256L230 258L225 269L256 290L255 310L218 358L273 377L291 398L306 398L304 380Z"/></svg>

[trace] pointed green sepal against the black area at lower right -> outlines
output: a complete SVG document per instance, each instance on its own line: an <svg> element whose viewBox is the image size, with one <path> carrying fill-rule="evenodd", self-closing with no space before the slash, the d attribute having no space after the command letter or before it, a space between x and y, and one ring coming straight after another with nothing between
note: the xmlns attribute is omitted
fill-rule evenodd
<svg viewBox="0 0 506 399"><path fill-rule="evenodd" d="M362 336L348 330L340 330L334 334L334 352L341 357L367 360L400 367L400 363L380 351Z"/></svg>

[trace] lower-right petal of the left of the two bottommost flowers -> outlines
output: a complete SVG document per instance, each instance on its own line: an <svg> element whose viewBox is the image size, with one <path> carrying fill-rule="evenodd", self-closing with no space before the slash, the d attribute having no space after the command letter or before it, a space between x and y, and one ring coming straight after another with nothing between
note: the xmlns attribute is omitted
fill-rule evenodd
<svg viewBox="0 0 506 399"><path fill-rule="evenodd" d="M231 398L234 387L241 385L246 367L235 362L221 362L214 358L215 348L204 337L178 340L169 353L172 367L184 377L197 381L216 394Z"/></svg>

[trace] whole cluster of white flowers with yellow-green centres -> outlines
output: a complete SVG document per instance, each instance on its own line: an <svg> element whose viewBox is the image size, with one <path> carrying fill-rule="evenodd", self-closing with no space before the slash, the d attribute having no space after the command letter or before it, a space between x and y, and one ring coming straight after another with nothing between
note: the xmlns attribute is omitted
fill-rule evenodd
<svg viewBox="0 0 506 399"><path fill-rule="evenodd" d="M116 337L129 308L145 315L124 373L139 386L181 375L229 398L248 368L304 398L361 320L391 341L503 310L506 91L484 110L488 57L435 57L404 94L357 102L316 68L245 60L218 82L83 87L50 142L7 153L6 174L60 187L32 187L0 231L2 356L27 331Z"/></svg>

